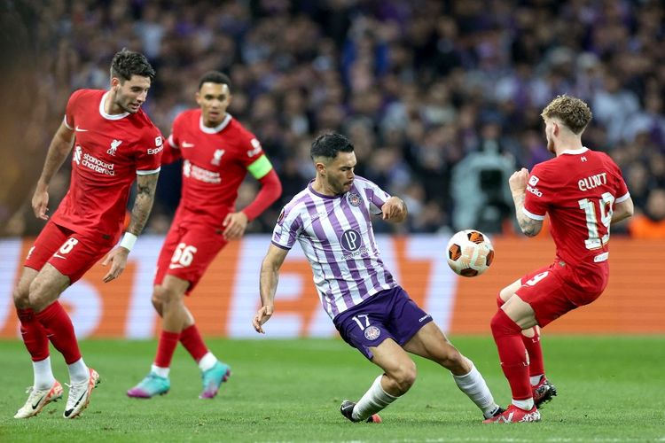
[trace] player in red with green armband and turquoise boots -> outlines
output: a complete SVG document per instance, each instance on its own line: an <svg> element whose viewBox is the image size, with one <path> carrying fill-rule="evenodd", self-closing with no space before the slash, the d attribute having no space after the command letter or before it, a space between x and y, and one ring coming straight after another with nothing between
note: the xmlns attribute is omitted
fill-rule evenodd
<svg viewBox="0 0 665 443"><path fill-rule="evenodd" d="M231 81L219 72L205 74L196 93L199 108L173 122L163 163L182 158L180 205L161 248L154 279L153 306L162 318L160 343L150 373L127 395L151 398L170 389L168 371L178 342L197 361L203 379L201 399L212 399L231 375L212 354L184 306L210 262L229 240L243 236L247 223L282 193L278 175L256 137L226 112ZM236 211L240 183L249 172L261 183L254 201Z"/></svg>

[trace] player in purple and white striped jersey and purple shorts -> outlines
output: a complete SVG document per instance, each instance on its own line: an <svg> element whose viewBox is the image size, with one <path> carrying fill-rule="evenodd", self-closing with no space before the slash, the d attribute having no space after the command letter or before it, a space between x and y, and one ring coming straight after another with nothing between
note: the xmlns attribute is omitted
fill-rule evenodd
<svg viewBox="0 0 665 443"><path fill-rule="evenodd" d="M416 365L408 353L449 369L485 417L502 412L473 362L450 344L381 260L372 216L404 221L403 200L354 175L356 154L345 136L319 136L310 154L317 176L278 218L262 262L262 307L254 316L254 330L264 333L262 325L274 311L279 268L297 240L309 260L321 304L340 336L382 371L360 400L341 403L343 416L352 422L379 423L377 413L416 379Z"/></svg>

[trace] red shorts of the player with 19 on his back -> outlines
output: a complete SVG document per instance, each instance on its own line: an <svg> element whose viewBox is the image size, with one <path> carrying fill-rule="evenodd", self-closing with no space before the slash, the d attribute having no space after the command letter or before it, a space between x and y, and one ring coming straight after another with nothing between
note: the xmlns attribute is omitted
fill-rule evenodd
<svg viewBox="0 0 665 443"><path fill-rule="evenodd" d="M536 313L536 321L544 327L568 311L598 299L605 289L603 284L596 290L585 291L570 284L571 280L568 266L561 266L557 260L550 266L523 276L522 285L515 293L531 306Z"/></svg>

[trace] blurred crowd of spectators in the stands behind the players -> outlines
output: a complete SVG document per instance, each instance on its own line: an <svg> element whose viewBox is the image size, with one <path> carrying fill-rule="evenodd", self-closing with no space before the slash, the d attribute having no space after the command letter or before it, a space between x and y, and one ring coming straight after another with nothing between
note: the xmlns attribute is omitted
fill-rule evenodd
<svg viewBox="0 0 665 443"><path fill-rule="evenodd" d="M29 185L20 196L10 191L22 206L0 210L5 234L41 228L30 186L67 97L106 89L113 54L128 48L157 71L144 108L165 136L177 113L196 105L201 74L230 75L229 112L258 137L284 184L250 232L271 231L314 176L313 138L339 131L356 146L356 174L409 206L408 223L375 229L511 233L507 179L551 158L540 113L569 94L591 105L583 143L618 163L639 213L636 228L613 232L665 237L661 1L44 0L21 8L36 55L34 98L24 105L21 146L12 147L23 155L3 155L2 167L29 170L17 178ZM168 229L179 166L162 168L147 232ZM67 162L51 185L51 211L69 174ZM257 184L246 180L239 207Z"/></svg>

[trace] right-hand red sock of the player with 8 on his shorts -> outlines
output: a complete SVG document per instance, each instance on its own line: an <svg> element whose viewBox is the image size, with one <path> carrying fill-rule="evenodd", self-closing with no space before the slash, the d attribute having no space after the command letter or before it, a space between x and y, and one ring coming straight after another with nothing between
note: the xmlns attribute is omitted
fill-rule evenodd
<svg viewBox="0 0 665 443"><path fill-rule="evenodd" d="M54 301L35 316L39 323L42 323L46 336L51 340L53 346L65 357L67 364L81 360L81 351L76 341L72 319L58 301Z"/></svg>

